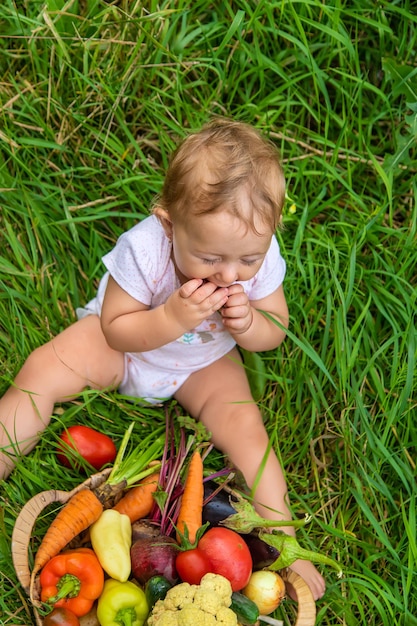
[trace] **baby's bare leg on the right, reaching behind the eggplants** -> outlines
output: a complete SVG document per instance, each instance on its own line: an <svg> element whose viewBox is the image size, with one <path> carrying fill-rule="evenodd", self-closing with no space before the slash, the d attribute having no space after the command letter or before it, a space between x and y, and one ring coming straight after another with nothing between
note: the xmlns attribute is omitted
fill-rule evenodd
<svg viewBox="0 0 417 626"><path fill-rule="evenodd" d="M230 358L231 357L231 358ZM230 355L195 372L175 397L212 433L214 445L242 472L249 487L255 483L268 448L268 435L254 402L239 355ZM256 509L267 519L290 520L287 485L277 456L269 452L255 492ZM279 526L279 524L277 524ZM294 535L292 527L282 528ZM321 574L309 561L296 561L292 569L310 586L315 599L325 591Z"/></svg>

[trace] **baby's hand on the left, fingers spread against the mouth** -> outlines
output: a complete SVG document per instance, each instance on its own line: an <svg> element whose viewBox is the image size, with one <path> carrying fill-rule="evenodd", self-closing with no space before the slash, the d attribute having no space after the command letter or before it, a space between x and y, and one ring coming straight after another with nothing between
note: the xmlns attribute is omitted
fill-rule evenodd
<svg viewBox="0 0 417 626"><path fill-rule="evenodd" d="M184 332L195 328L227 301L229 289L193 278L181 285L166 301L165 310Z"/></svg>

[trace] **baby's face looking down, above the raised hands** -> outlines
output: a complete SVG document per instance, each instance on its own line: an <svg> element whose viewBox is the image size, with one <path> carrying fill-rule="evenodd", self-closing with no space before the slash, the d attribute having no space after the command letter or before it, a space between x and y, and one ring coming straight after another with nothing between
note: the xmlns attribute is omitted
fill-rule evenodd
<svg viewBox="0 0 417 626"><path fill-rule="evenodd" d="M202 278L218 287L253 278L261 267L273 233L255 233L228 211L172 224L173 258L185 280Z"/></svg>

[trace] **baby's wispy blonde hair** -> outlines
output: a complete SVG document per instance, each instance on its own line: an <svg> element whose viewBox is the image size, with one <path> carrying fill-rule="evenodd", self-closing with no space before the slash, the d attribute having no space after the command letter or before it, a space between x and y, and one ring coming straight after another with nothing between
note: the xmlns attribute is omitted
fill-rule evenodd
<svg viewBox="0 0 417 626"><path fill-rule="evenodd" d="M284 199L275 145L248 124L215 118L175 150L157 205L182 222L226 208L255 231L259 221L274 231Z"/></svg>

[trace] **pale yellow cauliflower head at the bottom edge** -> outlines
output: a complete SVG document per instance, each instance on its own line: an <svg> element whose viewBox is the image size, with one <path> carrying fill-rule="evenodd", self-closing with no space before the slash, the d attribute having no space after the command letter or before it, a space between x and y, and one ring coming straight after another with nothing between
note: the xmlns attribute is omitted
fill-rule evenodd
<svg viewBox="0 0 417 626"><path fill-rule="evenodd" d="M148 626L237 626L229 608L232 586L219 574L206 574L199 585L180 583L158 600L148 617Z"/></svg>

